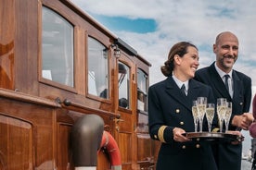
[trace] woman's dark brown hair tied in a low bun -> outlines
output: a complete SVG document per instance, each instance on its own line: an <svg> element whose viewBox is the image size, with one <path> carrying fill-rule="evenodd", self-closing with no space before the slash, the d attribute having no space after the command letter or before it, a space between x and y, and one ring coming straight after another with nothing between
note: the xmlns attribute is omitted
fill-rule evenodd
<svg viewBox="0 0 256 170"><path fill-rule="evenodd" d="M171 48L169 55L168 55L168 60L164 62L164 66L160 67L161 73L166 76L172 76L173 75L173 68L174 68L174 55L179 55L180 57L183 57L183 55L186 55L187 53L187 47L192 46L195 47L197 50L198 48L196 45L190 42L177 42L176 44L173 45Z"/></svg>

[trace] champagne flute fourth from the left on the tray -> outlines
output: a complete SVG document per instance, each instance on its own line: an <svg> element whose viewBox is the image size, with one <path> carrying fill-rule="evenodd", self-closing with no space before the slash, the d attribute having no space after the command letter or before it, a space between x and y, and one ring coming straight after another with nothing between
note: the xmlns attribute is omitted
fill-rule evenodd
<svg viewBox="0 0 256 170"><path fill-rule="evenodd" d="M220 132L223 132L225 112L226 112L226 99L218 98L217 99L217 115L219 119Z"/></svg>

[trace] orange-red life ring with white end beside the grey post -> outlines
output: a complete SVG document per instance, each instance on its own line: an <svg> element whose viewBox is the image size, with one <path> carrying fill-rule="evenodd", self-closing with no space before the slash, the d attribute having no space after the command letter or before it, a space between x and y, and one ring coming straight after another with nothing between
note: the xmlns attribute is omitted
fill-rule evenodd
<svg viewBox="0 0 256 170"><path fill-rule="evenodd" d="M118 144L108 131L103 131L100 148L104 148L109 153L111 170L122 170L121 154Z"/></svg>

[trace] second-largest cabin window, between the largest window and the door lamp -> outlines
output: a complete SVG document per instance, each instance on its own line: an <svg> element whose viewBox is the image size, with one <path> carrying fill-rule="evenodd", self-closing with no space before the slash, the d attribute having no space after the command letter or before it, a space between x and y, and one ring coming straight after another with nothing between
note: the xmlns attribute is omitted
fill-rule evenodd
<svg viewBox="0 0 256 170"><path fill-rule="evenodd" d="M88 92L109 99L108 48L96 39L88 38Z"/></svg>

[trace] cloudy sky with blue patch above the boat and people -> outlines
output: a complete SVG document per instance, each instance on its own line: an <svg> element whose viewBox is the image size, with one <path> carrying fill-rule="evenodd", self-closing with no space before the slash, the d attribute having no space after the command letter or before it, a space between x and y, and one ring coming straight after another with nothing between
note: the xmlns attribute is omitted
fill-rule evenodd
<svg viewBox="0 0 256 170"><path fill-rule="evenodd" d="M143 56L152 67L149 84L165 77L160 67L176 42L198 46L199 67L215 60L212 44L222 31L239 40L235 69L250 76L256 91L255 0L71 0Z"/></svg>

